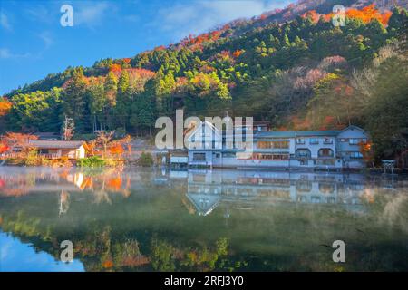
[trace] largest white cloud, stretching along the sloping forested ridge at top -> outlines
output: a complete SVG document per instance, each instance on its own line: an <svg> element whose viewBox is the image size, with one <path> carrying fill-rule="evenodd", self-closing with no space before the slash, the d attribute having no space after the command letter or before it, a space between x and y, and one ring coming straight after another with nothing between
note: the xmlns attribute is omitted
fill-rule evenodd
<svg viewBox="0 0 408 290"><path fill-rule="evenodd" d="M235 19L281 8L290 2L293 0L191 1L161 8L155 23L180 39L188 34L204 33Z"/></svg>

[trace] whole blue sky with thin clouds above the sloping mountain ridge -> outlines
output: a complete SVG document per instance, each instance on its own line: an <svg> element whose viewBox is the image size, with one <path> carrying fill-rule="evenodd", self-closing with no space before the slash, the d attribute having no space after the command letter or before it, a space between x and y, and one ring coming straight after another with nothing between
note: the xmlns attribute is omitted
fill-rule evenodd
<svg viewBox="0 0 408 290"><path fill-rule="evenodd" d="M0 95L67 66L132 57L295 0L0 0ZM60 8L73 6L73 27Z"/></svg>

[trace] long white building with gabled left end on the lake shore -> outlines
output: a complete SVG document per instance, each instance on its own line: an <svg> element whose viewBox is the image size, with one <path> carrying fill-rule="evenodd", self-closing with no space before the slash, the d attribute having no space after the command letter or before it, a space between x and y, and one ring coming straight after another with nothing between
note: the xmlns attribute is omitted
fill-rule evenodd
<svg viewBox="0 0 408 290"><path fill-rule="evenodd" d="M198 138L200 136L200 139ZM197 140L202 140L199 146ZM189 167L268 169L361 169L367 131L254 131L252 150L226 147L225 134L203 122L188 138Z"/></svg>

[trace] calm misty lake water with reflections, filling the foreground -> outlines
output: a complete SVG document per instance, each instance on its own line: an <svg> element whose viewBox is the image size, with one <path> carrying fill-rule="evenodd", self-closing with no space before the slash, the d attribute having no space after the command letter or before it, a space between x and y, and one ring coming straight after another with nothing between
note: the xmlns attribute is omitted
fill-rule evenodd
<svg viewBox="0 0 408 290"><path fill-rule="evenodd" d="M408 271L408 181L0 167L0 271L172 270Z"/></svg>

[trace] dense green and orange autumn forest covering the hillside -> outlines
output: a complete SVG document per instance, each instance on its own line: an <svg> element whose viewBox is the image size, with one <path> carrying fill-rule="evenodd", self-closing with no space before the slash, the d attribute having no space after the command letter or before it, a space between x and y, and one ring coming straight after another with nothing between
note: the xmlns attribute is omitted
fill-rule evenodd
<svg viewBox="0 0 408 290"><path fill-rule="evenodd" d="M295 8L49 74L0 99L0 133L61 131L69 117L78 133L148 134L158 116L184 109L253 116L274 130L352 123L371 132L377 158L407 150L407 11L353 7L334 26L329 5Z"/></svg>

